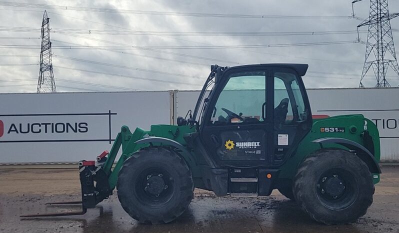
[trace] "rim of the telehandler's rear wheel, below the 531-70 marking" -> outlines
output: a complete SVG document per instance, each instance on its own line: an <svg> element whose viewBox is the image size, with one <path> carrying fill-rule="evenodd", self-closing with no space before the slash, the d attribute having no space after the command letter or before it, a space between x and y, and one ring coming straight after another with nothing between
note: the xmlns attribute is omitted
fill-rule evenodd
<svg viewBox="0 0 399 233"><path fill-rule="evenodd" d="M335 167L320 175L315 191L318 200L325 207L339 210L353 204L358 195L358 186L351 172Z"/></svg>

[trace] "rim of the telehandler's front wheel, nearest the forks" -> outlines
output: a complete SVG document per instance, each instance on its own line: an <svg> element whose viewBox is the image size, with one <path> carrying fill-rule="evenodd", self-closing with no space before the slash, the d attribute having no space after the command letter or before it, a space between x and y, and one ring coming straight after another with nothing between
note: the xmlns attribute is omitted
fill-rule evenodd
<svg viewBox="0 0 399 233"><path fill-rule="evenodd" d="M137 176L134 189L137 199L150 206L167 203L173 194L173 178L162 167L148 167Z"/></svg>

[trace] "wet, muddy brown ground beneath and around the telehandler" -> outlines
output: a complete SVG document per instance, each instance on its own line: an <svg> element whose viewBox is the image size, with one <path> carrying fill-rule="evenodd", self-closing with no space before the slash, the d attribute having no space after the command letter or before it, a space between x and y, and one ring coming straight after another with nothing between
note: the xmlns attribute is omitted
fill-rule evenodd
<svg viewBox="0 0 399 233"><path fill-rule="evenodd" d="M399 232L399 167L383 167L374 202L356 223L327 226L312 221L278 191L257 198L216 197L195 190L176 221L144 225L130 218L116 195L85 215L22 219L20 214L79 210L45 202L79 200L74 169L0 170L0 232Z"/></svg>

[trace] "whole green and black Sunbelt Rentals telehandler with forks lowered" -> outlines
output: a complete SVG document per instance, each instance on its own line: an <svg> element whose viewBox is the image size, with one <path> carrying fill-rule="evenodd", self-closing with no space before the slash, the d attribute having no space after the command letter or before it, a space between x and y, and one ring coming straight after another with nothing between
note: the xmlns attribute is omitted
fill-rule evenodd
<svg viewBox="0 0 399 233"><path fill-rule="evenodd" d="M361 114L312 115L307 67L212 65L192 114L177 125L122 126L109 153L79 162L82 201L73 203L82 212L27 216L82 214L116 187L131 217L159 224L185 211L194 187L248 197L276 188L316 221L355 221L379 181L378 130Z"/></svg>

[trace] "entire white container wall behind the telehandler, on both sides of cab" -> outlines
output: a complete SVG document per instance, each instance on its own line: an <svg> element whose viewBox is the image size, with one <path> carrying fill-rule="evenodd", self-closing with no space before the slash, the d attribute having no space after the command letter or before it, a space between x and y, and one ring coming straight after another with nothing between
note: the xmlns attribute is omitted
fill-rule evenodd
<svg viewBox="0 0 399 233"><path fill-rule="evenodd" d="M169 124L199 91L0 94L0 163L93 159L126 124ZM313 114L361 113L378 126L381 159L399 160L399 88L308 89ZM175 117L174 117L175 118Z"/></svg>

